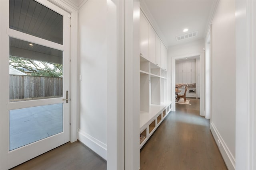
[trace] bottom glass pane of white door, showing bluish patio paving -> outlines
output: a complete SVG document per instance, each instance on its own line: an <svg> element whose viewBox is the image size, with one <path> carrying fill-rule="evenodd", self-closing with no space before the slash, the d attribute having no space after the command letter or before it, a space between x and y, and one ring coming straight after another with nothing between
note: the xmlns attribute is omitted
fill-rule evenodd
<svg viewBox="0 0 256 170"><path fill-rule="evenodd" d="M62 103L10 110L10 150L62 131Z"/></svg>

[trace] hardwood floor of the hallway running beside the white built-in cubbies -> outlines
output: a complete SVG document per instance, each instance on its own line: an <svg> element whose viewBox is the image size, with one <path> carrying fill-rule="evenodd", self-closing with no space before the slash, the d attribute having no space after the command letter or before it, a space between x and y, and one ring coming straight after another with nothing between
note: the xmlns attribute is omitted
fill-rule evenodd
<svg viewBox="0 0 256 170"><path fill-rule="evenodd" d="M199 115L200 101L176 104L140 150L140 170L226 170L210 132L210 120Z"/></svg>

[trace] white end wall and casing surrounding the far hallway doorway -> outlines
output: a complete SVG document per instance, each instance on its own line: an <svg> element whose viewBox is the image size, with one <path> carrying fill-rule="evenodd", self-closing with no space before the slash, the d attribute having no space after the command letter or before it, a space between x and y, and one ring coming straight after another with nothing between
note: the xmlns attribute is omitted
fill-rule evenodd
<svg viewBox="0 0 256 170"><path fill-rule="evenodd" d="M169 80L172 80L172 82L168 83L168 100L172 100L172 111L176 110L175 107L175 93L172 93L172 90L175 89L175 59L182 59L185 57L194 57L199 55L200 56L200 63L204 63L204 39L199 39L196 41L192 41L189 43L184 43L180 45L173 45L169 46L168 48L168 75L170 75ZM204 64L201 65L201 72L200 72L200 81L201 81L201 86L200 86L200 115L204 115L204 105L203 100L204 94L202 90L204 90Z"/></svg>

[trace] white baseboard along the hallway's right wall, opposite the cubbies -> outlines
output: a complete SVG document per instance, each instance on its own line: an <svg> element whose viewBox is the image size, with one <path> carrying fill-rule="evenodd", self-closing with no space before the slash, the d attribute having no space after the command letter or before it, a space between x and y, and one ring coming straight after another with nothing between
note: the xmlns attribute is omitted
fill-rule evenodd
<svg viewBox="0 0 256 170"><path fill-rule="evenodd" d="M212 135L214 137L214 140L218 146L218 140L220 141L219 150L222 155L222 158L224 159L224 162L228 168L228 170L235 170L236 160L230 150L228 149L226 143L223 141L220 133L218 132L217 128L215 127L214 123L211 122L210 124L210 130L212 132Z"/></svg>

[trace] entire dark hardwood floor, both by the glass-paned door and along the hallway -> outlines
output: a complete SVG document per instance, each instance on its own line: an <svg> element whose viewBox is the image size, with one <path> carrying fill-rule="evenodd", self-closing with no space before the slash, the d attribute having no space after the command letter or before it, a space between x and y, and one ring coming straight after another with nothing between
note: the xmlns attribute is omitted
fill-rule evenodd
<svg viewBox="0 0 256 170"><path fill-rule="evenodd" d="M140 151L140 170L226 170L210 132L199 115L199 100L176 104ZM13 170L106 170L106 161L79 142L66 143Z"/></svg>

